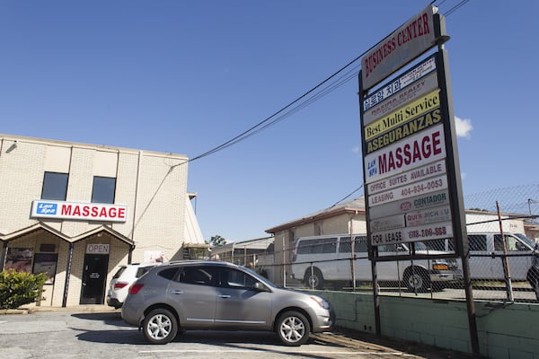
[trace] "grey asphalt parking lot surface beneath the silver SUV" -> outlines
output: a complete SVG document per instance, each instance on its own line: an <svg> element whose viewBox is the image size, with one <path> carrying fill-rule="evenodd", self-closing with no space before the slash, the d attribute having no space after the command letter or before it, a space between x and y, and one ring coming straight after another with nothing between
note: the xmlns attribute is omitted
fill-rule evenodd
<svg viewBox="0 0 539 359"><path fill-rule="evenodd" d="M299 347L281 346L273 333L187 331L164 346L148 344L137 328L105 306L4 311L0 357L28 358L470 358L358 333L323 333Z"/></svg>

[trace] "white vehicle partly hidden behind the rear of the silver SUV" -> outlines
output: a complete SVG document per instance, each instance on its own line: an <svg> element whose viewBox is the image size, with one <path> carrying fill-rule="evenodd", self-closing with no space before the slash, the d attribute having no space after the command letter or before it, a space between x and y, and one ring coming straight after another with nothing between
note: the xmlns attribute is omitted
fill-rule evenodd
<svg viewBox="0 0 539 359"><path fill-rule="evenodd" d="M107 304L115 309L121 308L128 296L129 285L132 285L152 267L155 267L155 263L119 266L112 279L110 279Z"/></svg>

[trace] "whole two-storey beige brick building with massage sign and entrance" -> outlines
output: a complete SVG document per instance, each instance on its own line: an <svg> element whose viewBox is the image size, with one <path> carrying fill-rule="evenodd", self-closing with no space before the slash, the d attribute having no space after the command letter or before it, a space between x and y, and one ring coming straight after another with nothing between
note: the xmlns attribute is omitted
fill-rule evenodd
<svg viewBox="0 0 539 359"><path fill-rule="evenodd" d="M188 158L0 135L0 266L45 272L40 305L102 304L119 265L207 249Z"/></svg>

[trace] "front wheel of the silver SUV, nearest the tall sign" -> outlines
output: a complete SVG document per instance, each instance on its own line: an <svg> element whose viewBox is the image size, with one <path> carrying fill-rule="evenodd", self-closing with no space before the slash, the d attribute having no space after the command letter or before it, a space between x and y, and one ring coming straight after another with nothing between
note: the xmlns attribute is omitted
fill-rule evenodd
<svg viewBox="0 0 539 359"><path fill-rule="evenodd" d="M277 335L285 346L301 346L309 340L311 325L299 311L286 311L278 317Z"/></svg>

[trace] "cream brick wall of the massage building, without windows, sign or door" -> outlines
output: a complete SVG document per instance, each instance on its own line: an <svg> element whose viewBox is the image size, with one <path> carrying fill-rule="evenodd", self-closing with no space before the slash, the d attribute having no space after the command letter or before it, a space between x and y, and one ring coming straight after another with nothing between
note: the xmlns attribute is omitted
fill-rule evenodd
<svg viewBox="0 0 539 359"><path fill-rule="evenodd" d="M41 199L46 171L68 173L67 202L89 204L94 176L116 178L115 205L127 206L127 221L32 218L31 204ZM0 240L37 223L60 232L63 237L40 231L4 245L36 253L41 242L54 242L57 273L54 285L46 285L46 299L40 305L62 305L65 295L67 305L76 305L88 243L110 245L107 284L119 265L127 264L129 258L142 262L146 251L163 252L168 259L181 257L189 203L187 171L187 158L179 154L0 135L0 182L4 183L0 186ZM84 233L102 226L133 241L131 255L128 242L108 232L85 237ZM71 273L66 278L69 261Z"/></svg>

